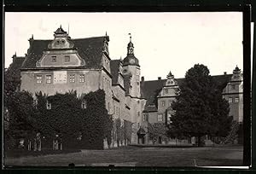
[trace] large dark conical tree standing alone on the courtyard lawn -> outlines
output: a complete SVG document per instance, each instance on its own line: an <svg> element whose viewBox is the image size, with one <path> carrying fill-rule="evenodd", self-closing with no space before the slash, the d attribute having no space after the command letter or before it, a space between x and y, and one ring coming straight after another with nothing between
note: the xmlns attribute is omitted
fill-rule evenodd
<svg viewBox="0 0 256 174"><path fill-rule="evenodd" d="M176 102L172 103L172 135L178 132L179 136L196 136L198 146L202 145L201 136L226 136L232 121L228 116L229 104L209 73L204 65L190 68L179 86Z"/></svg>

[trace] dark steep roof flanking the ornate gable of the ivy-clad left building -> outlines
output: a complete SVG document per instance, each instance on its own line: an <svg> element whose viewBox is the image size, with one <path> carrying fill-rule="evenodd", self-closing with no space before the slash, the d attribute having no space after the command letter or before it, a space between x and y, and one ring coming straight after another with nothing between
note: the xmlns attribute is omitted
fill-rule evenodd
<svg viewBox="0 0 256 174"><path fill-rule="evenodd" d="M102 67L102 50L104 46L104 37L94 38L76 38L70 39L74 48L78 50L79 55L85 61L86 68L101 68ZM35 68L36 62L42 57L43 51L48 49L48 44L52 40L31 40L30 48L26 56L26 60L22 68Z"/></svg>

